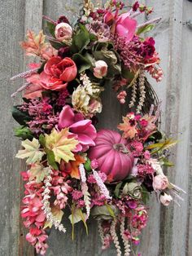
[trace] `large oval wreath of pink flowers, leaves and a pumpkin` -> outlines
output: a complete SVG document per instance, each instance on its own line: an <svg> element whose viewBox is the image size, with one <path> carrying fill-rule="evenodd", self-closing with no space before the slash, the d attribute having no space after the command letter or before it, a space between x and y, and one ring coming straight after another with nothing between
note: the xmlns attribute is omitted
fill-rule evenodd
<svg viewBox="0 0 192 256"><path fill-rule="evenodd" d="M73 26L66 16L57 21L43 16L47 35L28 30L21 42L26 55L37 57L28 71L11 78L26 80L12 95L24 91L24 102L12 115L24 148L16 157L26 158L28 165L21 172L21 216L37 254L46 254L51 227L66 232L62 218L68 208L72 239L78 222L88 232L91 215L103 249L113 241L118 256L122 251L140 255L135 245L146 227L151 192L166 206L181 198L183 191L162 169L173 166L169 148L177 141L159 130L160 104L146 78L149 73L159 82L163 76L154 38L145 38L160 18L144 24L136 20L152 11L138 2L125 7L111 0L95 7L86 0ZM106 87L120 104L129 102L119 132L95 128Z"/></svg>

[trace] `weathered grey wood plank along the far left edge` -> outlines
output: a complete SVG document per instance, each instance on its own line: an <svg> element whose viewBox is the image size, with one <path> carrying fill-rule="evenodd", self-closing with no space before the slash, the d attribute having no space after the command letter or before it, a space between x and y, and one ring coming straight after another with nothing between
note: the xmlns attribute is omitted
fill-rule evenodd
<svg viewBox="0 0 192 256"><path fill-rule="evenodd" d="M22 51L18 42L24 37L24 1L1 1L1 198L0 198L0 228L1 255L19 254L20 239L20 166L13 159L19 146L18 139L13 137L13 120L11 117L11 93L20 83L11 86L10 77L23 69ZM15 125L15 124L14 124Z"/></svg>

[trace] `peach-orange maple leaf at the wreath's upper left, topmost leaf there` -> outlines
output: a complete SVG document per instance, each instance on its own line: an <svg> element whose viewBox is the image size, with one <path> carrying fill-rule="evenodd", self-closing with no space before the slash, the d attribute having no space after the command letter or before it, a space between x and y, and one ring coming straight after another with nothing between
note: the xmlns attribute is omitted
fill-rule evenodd
<svg viewBox="0 0 192 256"><path fill-rule="evenodd" d="M26 51L26 54L40 55L41 47L44 46L46 39L43 31L41 30L36 35L33 31L28 30L26 39L26 41L20 43L21 47L24 48L24 50Z"/></svg>

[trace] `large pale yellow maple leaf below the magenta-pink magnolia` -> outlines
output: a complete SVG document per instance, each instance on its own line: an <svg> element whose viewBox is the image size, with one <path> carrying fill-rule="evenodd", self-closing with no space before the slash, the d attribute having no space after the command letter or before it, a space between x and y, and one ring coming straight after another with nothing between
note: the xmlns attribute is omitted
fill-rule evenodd
<svg viewBox="0 0 192 256"><path fill-rule="evenodd" d="M74 139L68 132L68 128L61 131L53 129L50 135L45 135L46 148L50 149L55 154L55 161L60 163L63 161L75 161L73 150L78 144L78 140Z"/></svg>

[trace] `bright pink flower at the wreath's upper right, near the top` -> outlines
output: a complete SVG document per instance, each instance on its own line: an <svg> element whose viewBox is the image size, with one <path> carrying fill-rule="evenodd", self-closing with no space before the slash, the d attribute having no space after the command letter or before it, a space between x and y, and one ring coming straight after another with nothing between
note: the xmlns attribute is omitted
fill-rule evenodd
<svg viewBox="0 0 192 256"><path fill-rule="evenodd" d="M129 18L129 12L118 16L116 20L116 33L119 37L125 38L129 42L135 33L137 21Z"/></svg>

